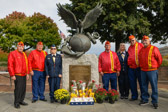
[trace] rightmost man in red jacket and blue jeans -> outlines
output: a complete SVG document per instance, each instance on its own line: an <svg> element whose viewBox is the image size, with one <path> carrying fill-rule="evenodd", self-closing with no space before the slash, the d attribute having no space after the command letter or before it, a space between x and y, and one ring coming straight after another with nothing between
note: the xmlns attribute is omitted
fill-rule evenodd
<svg viewBox="0 0 168 112"><path fill-rule="evenodd" d="M148 104L148 84L150 82L152 87L152 104L155 109L158 107L158 68L162 64L162 56L159 49L150 44L148 36L143 37L144 47L139 53L139 62L141 67L141 77L142 77L142 101L140 105Z"/></svg>

